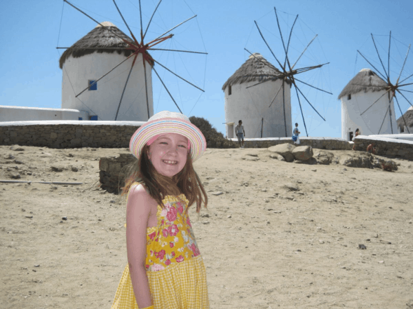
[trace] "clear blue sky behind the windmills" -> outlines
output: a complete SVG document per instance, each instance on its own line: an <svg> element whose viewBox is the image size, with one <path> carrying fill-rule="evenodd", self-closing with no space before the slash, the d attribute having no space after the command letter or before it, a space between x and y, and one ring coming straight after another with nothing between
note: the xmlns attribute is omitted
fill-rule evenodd
<svg viewBox="0 0 413 309"><path fill-rule="evenodd" d="M71 2L98 21L112 21L129 34L113 1ZM138 1L118 0L116 3L132 32L138 35ZM142 1L144 27L157 3L158 0ZM284 62L274 7L277 8L285 40L295 15L299 14L290 43L290 61L295 62L313 36L318 34L301 57L299 66L330 62L321 69L299 76L304 82L332 93L328 95L306 85L299 86L326 119L324 122L301 98L309 135L341 137L341 104L337 96L360 69L372 68L360 55L357 56L357 49L383 72L370 34L374 34L387 69L389 32L392 31L390 75L391 80L395 81L403 65L407 46L413 43L413 1L163 0L149 27L147 38L156 38L157 34L162 34L162 30L169 30L173 25L197 14L195 19L176 28L172 32L175 36L160 47L206 51L208 55L166 52L152 54L162 64L200 86L204 93L178 82L166 72L161 73L162 78L186 115L204 117L224 133L222 85L248 59L249 54L244 48L259 52L277 66L277 61L264 45L254 21L257 21L275 56ZM0 16L3 23L0 28L0 105L60 108L62 71L59 68L59 58L63 50L56 47L71 46L92 30L95 23L67 3L63 5L63 0L1 1ZM412 73L413 51L410 51L402 77ZM413 78L408 81L413 82ZM291 93L293 123L299 122L302 128L294 93ZM405 94L413 103L413 93ZM403 112L410 106L404 99L399 102ZM153 106L155 112L165 109L177 111L155 74ZM396 117L399 117L399 108L395 108Z"/></svg>

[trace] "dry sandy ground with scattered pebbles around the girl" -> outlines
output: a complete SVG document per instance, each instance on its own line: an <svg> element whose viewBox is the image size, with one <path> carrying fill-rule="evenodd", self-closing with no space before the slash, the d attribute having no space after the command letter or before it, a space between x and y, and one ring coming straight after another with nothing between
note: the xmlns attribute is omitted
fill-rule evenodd
<svg viewBox="0 0 413 309"><path fill-rule="evenodd" d="M0 179L83 185L0 183L0 308L110 308L125 204L100 190L98 159L127 150L23 149L0 146ZM209 194L191 220L211 308L413 306L413 162L383 172L268 155L209 149L195 163Z"/></svg>

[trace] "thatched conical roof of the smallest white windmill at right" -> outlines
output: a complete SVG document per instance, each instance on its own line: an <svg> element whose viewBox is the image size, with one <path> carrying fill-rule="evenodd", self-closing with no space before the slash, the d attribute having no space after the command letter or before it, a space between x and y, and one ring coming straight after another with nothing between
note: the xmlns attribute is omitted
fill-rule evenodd
<svg viewBox="0 0 413 309"><path fill-rule="evenodd" d="M348 82L347 86L344 87L338 99L340 100L346 95L359 93L361 91L381 91L385 87L388 87L388 84L380 76L370 69L361 69L361 71Z"/></svg>

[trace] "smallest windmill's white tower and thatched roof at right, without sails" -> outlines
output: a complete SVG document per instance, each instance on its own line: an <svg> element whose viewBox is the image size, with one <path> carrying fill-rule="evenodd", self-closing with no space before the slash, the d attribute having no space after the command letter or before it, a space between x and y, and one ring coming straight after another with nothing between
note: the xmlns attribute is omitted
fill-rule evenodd
<svg viewBox="0 0 413 309"><path fill-rule="evenodd" d="M361 69L348 82L339 94L342 139L352 140L357 128L361 135L398 133L391 91L386 93L386 87L387 82L370 69Z"/></svg>

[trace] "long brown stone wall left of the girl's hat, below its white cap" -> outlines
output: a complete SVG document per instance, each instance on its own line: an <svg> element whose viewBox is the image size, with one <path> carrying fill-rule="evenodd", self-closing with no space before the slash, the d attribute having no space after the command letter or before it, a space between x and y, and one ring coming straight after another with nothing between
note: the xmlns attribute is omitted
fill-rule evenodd
<svg viewBox="0 0 413 309"><path fill-rule="evenodd" d="M25 124L0 126L0 145L49 148L127 148L139 126Z"/></svg>

